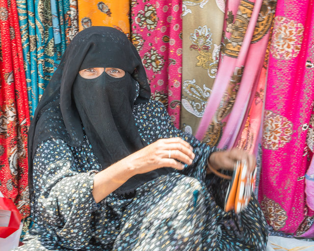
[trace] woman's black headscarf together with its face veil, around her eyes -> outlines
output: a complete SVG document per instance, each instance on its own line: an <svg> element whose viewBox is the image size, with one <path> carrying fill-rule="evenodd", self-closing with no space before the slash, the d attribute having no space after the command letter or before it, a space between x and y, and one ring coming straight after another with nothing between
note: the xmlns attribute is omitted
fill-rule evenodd
<svg viewBox="0 0 314 251"><path fill-rule="evenodd" d="M119 68L126 74L122 78L114 78L104 72L94 79L78 75L78 71L94 67ZM140 87L137 98L136 81ZM32 160L42 141L60 138L70 146L81 146L83 126L94 153L105 169L146 146L135 126L132 108L134 104L148 102L149 99L150 87L142 61L125 34L103 26L79 32L66 49L38 103L29 128L28 180L31 199ZM117 192L129 193L159 176L159 172L162 173L160 170L133 176Z"/></svg>

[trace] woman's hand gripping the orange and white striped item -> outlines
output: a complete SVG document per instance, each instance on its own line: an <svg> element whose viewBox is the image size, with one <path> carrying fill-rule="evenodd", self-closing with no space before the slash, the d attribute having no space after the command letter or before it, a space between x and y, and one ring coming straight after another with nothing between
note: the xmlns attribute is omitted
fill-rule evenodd
<svg viewBox="0 0 314 251"><path fill-rule="evenodd" d="M233 148L227 151L216 151L210 154L209 164L212 168L218 170L234 170L235 163L238 160L245 160L248 165L247 175L251 174L256 166L256 158L243 150Z"/></svg>

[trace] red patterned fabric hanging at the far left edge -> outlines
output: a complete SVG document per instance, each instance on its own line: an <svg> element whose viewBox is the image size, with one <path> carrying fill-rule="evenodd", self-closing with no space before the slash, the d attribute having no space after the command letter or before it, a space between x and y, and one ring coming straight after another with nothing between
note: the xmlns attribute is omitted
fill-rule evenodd
<svg viewBox="0 0 314 251"><path fill-rule="evenodd" d="M0 0L0 191L29 215L26 78L15 1Z"/></svg>

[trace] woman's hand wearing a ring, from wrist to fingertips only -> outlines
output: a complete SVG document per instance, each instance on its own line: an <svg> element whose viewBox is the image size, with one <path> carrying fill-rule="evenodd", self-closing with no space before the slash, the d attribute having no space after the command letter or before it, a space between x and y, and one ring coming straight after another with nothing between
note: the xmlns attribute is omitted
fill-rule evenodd
<svg viewBox="0 0 314 251"><path fill-rule="evenodd" d="M183 170L184 164L192 164L195 157L192 150L193 148L179 137L159 139L121 161L126 163L133 175L147 173L162 167Z"/></svg>

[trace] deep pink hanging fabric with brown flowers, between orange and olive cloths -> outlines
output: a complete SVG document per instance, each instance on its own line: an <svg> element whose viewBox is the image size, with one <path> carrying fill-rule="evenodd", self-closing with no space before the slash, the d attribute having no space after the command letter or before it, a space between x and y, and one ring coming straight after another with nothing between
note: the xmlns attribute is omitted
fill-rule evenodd
<svg viewBox="0 0 314 251"><path fill-rule="evenodd" d="M140 54L152 98L166 107L180 126L182 81L182 1L132 0L132 42Z"/></svg>

